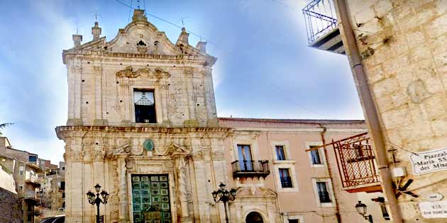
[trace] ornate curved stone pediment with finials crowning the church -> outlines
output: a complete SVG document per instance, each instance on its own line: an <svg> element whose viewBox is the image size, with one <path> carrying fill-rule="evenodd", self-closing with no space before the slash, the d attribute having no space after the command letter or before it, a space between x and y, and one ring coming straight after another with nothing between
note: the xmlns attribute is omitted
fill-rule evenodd
<svg viewBox="0 0 447 223"><path fill-rule="evenodd" d="M97 25L94 28L99 29ZM105 37L99 38L100 33L97 30L95 32L94 40L85 43L81 43L82 35L75 35L75 47L62 53L64 63L71 57L69 55L92 55L92 52L107 57L197 59L206 66L212 66L216 62L215 57L206 54L206 42L199 42L196 47L189 45L189 33L183 28L179 39L173 43L165 32L148 22L144 10L140 9L134 11L132 22L119 29L115 38L109 42Z"/></svg>

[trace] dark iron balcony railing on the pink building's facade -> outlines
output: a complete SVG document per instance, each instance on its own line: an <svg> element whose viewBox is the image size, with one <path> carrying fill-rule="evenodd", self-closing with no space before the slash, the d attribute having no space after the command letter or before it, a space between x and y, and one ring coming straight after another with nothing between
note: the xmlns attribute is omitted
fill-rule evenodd
<svg viewBox="0 0 447 223"><path fill-rule="evenodd" d="M233 178L263 177L270 174L267 160L236 160L231 162Z"/></svg>

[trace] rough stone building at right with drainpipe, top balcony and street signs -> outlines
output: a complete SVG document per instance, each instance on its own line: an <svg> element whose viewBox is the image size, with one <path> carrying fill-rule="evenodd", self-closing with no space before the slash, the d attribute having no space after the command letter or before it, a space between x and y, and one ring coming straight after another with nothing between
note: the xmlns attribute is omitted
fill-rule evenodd
<svg viewBox="0 0 447 223"><path fill-rule="evenodd" d="M331 3L303 9L309 45L348 55L393 221L446 222L447 1Z"/></svg>

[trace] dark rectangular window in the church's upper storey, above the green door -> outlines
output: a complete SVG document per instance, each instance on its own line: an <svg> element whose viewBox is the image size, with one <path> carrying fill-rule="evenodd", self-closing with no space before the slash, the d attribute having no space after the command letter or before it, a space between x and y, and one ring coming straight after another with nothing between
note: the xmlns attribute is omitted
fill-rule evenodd
<svg viewBox="0 0 447 223"><path fill-rule="evenodd" d="M135 108L135 122L157 122L153 90L135 89L133 91L133 105Z"/></svg>

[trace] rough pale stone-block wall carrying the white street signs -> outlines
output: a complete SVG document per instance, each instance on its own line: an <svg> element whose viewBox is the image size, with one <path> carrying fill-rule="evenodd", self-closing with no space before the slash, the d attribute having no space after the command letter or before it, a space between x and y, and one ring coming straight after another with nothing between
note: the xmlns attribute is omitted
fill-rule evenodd
<svg viewBox="0 0 447 223"><path fill-rule="evenodd" d="M405 168L396 181L414 180L407 190L419 195L399 196L404 222L446 222L419 209L432 193L447 195L446 172L415 174L409 156L447 144L447 1L347 2L351 21L341 22L354 28L386 149L396 149L390 168Z"/></svg>

